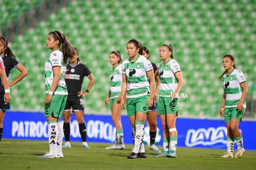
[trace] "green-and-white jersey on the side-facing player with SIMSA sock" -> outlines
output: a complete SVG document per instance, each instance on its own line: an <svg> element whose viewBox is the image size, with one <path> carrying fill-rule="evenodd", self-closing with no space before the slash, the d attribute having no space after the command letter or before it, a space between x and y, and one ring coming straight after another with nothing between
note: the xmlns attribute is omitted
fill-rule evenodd
<svg viewBox="0 0 256 170"><path fill-rule="evenodd" d="M45 62L45 93L49 93L54 78L53 67L56 66L61 67L61 78L56 90L54 91L54 94L67 95L67 86L64 77L66 67L64 67L63 63L63 54L59 50L53 51L50 54L49 59L47 59Z"/></svg>

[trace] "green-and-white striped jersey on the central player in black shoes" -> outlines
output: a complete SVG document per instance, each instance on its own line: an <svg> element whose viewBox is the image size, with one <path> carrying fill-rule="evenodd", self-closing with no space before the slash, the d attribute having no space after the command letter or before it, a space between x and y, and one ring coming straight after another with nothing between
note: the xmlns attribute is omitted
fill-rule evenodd
<svg viewBox="0 0 256 170"><path fill-rule="evenodd" d="M126 74L127 79L127 98L144 96L150 92L147 72L152 69L151 62L141 55L134 62L130 58L122 62L122 74Z"/></svg>

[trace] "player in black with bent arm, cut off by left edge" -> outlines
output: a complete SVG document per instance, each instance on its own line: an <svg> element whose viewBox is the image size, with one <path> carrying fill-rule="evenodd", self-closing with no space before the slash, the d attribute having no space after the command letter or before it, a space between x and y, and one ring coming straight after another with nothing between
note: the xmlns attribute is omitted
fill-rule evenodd
<svg viewBox="0 0 256 170"><path fill-rule="evenodd" d="M1 73L5 68L5 74L7 78L11 74L11 70L13 68L17 68L20 72L20 74L17 77L15 77L14 80L9 82L9 87L12 87L16 83L18 83L20 80L22 80L26 75L28 75L28 72L25 69L25 67L23 67L22 64L20 64L19 61L17 61L17 59L15 59L14 53L12 53L11 48L9 48L8 46L8 41L4 37L0 37L0 56L1 56L1 60L4 61L4 66L1 65ZM7 102L9 100L6 100L6 102L4 101L4 96L10 99L11 99L11 96L9 96L10 94L10 91L8 90L9 88L4 87L4 85L2 85L2 83L4 83L3 79L5 78L2 78L1 79L2 81L0 80L0 141L3 133L4 115L7 110L11 109L9 102Z"/></svg>

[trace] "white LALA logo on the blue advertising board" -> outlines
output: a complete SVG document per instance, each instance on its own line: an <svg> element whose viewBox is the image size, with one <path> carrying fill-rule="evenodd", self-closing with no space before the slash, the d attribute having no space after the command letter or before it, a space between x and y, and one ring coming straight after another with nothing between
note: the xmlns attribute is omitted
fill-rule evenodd
<svg viewBox="0 0 256 170"><path fill-rule="evenodd" d="M197 145L214 145L216 143L226 143L226 127L220 126L215 129L215 127L209 127L208 129L189 129L186 135L186 146L195 147Z"/></svg>

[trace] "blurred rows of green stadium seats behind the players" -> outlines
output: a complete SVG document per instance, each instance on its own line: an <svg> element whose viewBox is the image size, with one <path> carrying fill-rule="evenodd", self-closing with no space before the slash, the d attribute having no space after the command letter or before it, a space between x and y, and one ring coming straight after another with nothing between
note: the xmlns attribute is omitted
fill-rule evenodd
<svg viewBox="0 0 256 170"><path fill-rule="evenodd" d="M254 1L70 1L69 6L50 14L12 43L17 59L29 72L24 81L12 87L12 108L43 111L44 64L50 53L45 47L46 36L60 30L79 48L81 62L96 78L85 97L87 113L109 113L109 107L104 106L111 69L109 53L121 51L126 59L126 43L136 38L150 49L150 60L158 66L160 46L173 45L174 59L184 76L182 92L188 96L181 101L190 103L180 108L180 116L217 116L223 94L218 77L224 71L224 54L236 57L248 85L255 81L255 11ZM83 87L87 85L85 78Z"/></svg>

